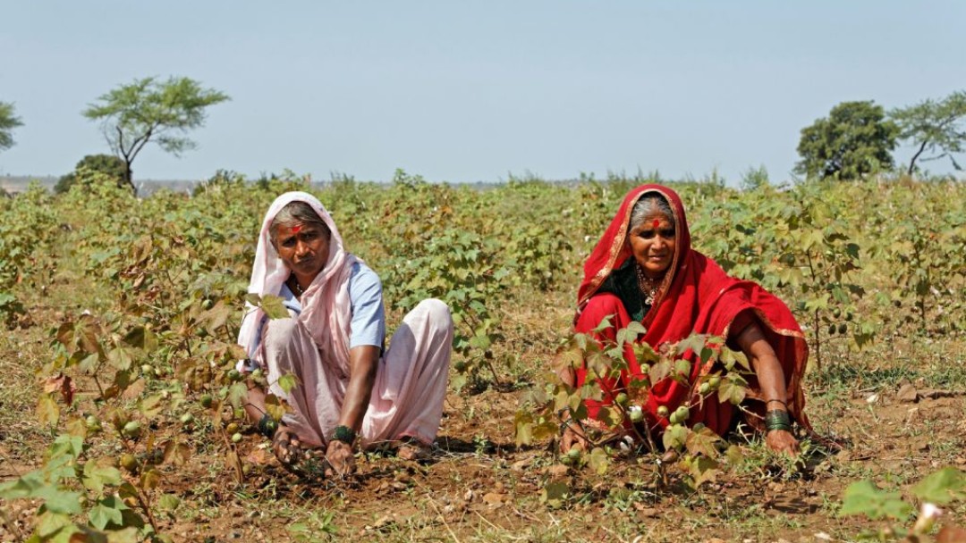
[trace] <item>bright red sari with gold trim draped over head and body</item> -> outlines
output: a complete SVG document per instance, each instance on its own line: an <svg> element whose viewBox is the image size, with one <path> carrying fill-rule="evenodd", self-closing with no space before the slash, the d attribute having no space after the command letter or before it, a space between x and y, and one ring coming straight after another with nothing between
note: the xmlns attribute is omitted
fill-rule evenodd
<svg viewBox="0 0 966 543"><path fill-rule="evenodd" d="M805 396L802 392L802 378L809 357L809 347L794 316L780 299L760 285L728 276L717 262L691 248L691 232L688 230L684 205L677 193L668 187L642 185L624 198L611 226L604 232L583 265L583 281L578 292L578 309L574 319L575 331L594 335L598 339L613 340L617 330L625 328L631 322L631 316L620 298L611 292L599 292L599 289L611 272L618 269L627 258L633 258L627 242L631 211L645 193L658 193L670 204L674 215L676 251L653 306L641 320L646 333L638 340L659 350L664 343L673 343L695 333L728 339L729 332L740 332L733 328L744 328L756 319L781 362L787 390L785 400L788 413L794 420L810 429L803 412ZM602 333L593 333L593 329L608 316L611 316L612 326ZM639 364L630 347L625 351L625 359L629 370L620 379L599 381L604 389L603 401L586 400L590 419L596 417L602 405L611 404L616 391L625 389L632 378L641 375ZM710 366L702 367L693 353L689 355L689 360L693 362L692 382L712 369ZM585 367L577 369L578 386L584 383L586 373ZM750 411L763 415L765 404L753 376L749 379L749 385L745 405ZM653 383L647 403L641 406L648 425L667 426L668 421L657 416L658 406L665 405L673 411L686 400L693 399L691 394L696 394L696 391L670 378ZM735 411L735 406L727 402L721 403L717 394L711 394L704 399L700 409L692 408L688 425L703 422L723 435L730 427ZM755 428L762 427L762 421L757 417L748 418L748 422Z"/></svg>

